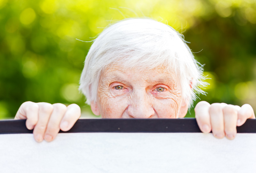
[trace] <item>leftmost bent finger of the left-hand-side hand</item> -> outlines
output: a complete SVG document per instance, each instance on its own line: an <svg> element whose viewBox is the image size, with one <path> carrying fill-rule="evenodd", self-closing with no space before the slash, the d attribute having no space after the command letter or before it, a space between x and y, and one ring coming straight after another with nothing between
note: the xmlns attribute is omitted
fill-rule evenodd
<svg viewBox="0 0 256 173"><path fill-rule="evenodd" d="M34 102L24 102L20 105L14 119L27 119L26 127L32 130L38 121L39 106Z"/></svg>

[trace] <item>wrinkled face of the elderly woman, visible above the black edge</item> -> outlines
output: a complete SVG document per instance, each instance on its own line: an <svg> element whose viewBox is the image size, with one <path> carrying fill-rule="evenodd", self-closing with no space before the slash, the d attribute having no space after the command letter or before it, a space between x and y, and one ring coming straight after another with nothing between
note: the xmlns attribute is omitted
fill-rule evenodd
<svg viewBox="0 0 256 173"><path fill-rule="evenodd" d="M91 108L102 118L178 118L186 115L188 103L174 74L116 66L100 76Z"/></svg>

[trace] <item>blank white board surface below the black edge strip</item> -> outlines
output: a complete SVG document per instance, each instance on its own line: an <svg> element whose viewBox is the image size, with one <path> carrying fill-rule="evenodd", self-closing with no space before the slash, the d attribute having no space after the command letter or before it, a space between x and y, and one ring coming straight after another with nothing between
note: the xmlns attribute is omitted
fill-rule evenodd
<svg viewBox="0 0 256 173"><path fill-rule="evenodd" d="M256 172L256 133L0 134L0 172Z"/></svg>

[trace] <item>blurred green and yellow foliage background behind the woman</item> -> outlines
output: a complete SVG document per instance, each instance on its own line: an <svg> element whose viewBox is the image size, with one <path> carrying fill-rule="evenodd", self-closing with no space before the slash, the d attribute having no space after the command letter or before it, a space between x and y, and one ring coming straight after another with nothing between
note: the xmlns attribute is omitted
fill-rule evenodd
<svg viewBox="0 0 256 173"><path fill-rule="evenodd" d="M198 52L212 78L201 100L256 110L255 0L0 0L0 119L13 118L25 101L76 103L83 117L96 118L77 90L92 43L76 39L144 16L183 33Z"/></svg>

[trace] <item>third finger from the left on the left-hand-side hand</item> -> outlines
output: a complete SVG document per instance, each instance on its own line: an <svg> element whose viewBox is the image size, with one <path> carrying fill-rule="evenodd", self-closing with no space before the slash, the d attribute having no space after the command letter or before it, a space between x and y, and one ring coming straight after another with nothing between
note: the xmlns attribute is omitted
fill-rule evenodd
<svg viewBox="0 0 256 173"><path fill-rule="evenodd" d="M48 141L48 142L55 139L56 135L59 133L60 121L67 110L67 106L61 103L56 103L56 104L53 104L52 106L53 106L53 111L49 119L49 122L47 124L46 131L44 133L44 139L45 141Z"/></svg>

